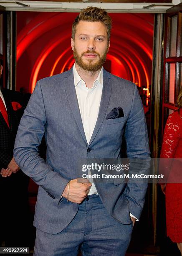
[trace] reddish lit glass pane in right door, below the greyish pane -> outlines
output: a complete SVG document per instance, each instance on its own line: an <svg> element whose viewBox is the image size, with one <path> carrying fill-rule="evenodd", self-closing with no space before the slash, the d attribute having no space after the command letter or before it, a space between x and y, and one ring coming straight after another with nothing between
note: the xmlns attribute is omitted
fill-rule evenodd
<svg viewBox="0 0 182 256"><path fill-rule="evenodd" d="M167 78L167 90L165 95L165 102L174 104L174 88L175 88L175 69L176 64L169 64L168 78Z"/></svg>

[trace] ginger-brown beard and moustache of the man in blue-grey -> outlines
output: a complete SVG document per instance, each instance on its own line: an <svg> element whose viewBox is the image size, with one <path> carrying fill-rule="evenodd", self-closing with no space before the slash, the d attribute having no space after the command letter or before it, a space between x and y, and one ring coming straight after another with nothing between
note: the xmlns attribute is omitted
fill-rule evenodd
<svg viewBox="0 0 182 256"><path fill-rule="evenodd" d="M103 56L100 56L100 54L96 51L84 51L81 56L78 55L75 47L74 47L74 50L73 50L73 57L76 61L76 63L84 70L87 70L87 71L91 71L91 72L96 72L97 70L99 70L102 65L104 64L104 62L106 61L106 55L107 55L107 50L108 48L106 49L106 51L104 52ZM93 60L92 59L89 59L88 60L88 63L85 63L82 59L82 56L84 54L97 54L97 56L99 57L99 60L95 63L92 63Z"/></svg>

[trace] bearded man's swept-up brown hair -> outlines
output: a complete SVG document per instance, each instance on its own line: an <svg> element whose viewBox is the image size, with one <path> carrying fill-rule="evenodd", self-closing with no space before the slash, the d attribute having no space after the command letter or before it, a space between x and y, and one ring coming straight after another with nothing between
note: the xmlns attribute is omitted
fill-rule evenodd
<svg viewBox="0 0 182 256"><path fill-rule="evenodd" d="M73 40L75 39L76 26L80 20L85 21L100 21L107 27L107 38L110 41L112 21L111 17L107 14L106 10L89 6L81 11L81 13L76 17L72 25L72 35Z"/></svg>

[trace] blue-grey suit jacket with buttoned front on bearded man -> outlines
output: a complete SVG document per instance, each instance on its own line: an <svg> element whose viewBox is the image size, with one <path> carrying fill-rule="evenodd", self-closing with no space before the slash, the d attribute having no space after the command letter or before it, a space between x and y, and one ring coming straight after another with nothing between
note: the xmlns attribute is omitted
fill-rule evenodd
<svg viewBox="0 0 182 256"><path fill-rule="evenodd" d="M121 107L124 117L106 119ZM150 158L147 125L137 87L104 70L99 115L89 144L76 97L73 68L41 79L30 97L15 140L14 158L22 171L39 185L35 207L35 227L59 233L71 222L79 205L61 195L66 184L76 179L76 159L118 158L125 134L128 158ZM38 154L45 135L46 161ZM90 152L87 148L92 148ZM140 218L147 184L118 181L96 184L108 212L118 222L129 224L131 212Z"/></svg>

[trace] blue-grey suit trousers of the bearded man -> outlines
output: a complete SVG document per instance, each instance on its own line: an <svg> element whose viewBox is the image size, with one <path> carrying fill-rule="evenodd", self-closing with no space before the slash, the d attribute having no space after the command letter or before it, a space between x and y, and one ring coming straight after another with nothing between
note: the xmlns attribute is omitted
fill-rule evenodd
<svg viewBox="0 0 182 256"><path fill-rule="evenodd" d="M37 229L34 256L124 256L129 246L132 222L124 225L106 211L99 195L84 200L71 223L58 234ZM63 199L66 200L66 199Z"/></svg>

